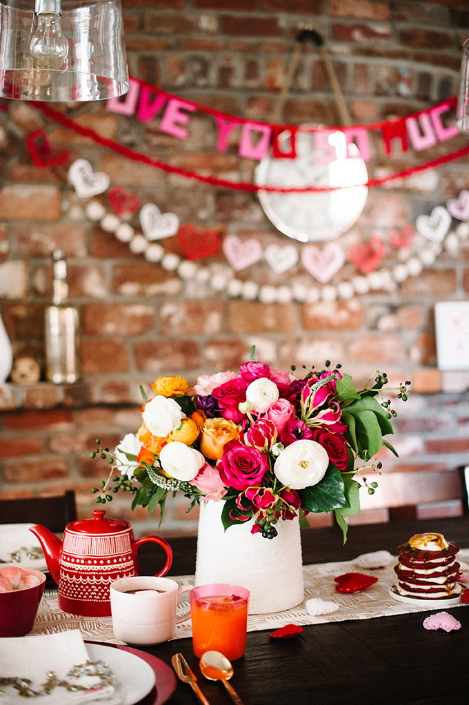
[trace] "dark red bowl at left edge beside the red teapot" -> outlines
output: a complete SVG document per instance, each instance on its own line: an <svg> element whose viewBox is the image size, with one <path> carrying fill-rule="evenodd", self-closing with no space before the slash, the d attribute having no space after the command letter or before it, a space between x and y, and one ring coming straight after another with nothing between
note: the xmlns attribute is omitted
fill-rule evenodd
<svg viewBox="0 0 469 705"><path fill-rule="evenodd" d="M46 576L39 570L23 570L37 575L41 582L34 587L0 592L0 637L24 637L34 626Z"/></svg>

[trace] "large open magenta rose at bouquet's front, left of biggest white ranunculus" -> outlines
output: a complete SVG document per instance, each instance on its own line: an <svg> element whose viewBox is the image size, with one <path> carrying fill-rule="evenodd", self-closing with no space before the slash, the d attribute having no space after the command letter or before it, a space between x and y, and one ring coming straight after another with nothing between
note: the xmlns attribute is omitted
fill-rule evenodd
<svg viewBox="0 0 469 705"><path fill-rule="evenodd" d="M217 468L226 486L245 490L262 482L264 474L269 470L269 461L267 455L257 448L229 441L224 447L221 460L217 462Z"/></svg>

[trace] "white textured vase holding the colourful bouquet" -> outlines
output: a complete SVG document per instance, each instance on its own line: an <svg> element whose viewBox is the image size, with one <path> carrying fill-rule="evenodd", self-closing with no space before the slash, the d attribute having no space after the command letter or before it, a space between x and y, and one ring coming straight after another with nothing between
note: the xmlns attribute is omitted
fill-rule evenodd
<svg viewBox="0 0 469 705"><path fill-rule="evenodd" d="M224 502L201 502L195 585L224 582L250 591L249 613L288 610L303 601L303 557L298 518L279 521L274 539L251 534L253 520L224 531Z"/></svg>

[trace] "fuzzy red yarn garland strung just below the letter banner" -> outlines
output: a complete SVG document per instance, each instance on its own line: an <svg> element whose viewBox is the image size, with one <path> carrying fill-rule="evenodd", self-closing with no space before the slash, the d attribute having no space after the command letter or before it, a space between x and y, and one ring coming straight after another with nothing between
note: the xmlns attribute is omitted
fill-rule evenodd
<svg viewBox="0 0 469 705"><path fill-rule="evenodd" d="M42 111L42 113L47 117L51 118L51 120L61 123L61 125L64 125L66 128L73 130L75 133L78 133L83 137L88 137L90 140L96 142L98 145L102 145L102 147L111 149L113 152L121 154L123 157L132 159L133 161L138 161L142 164L147 164L148 166L153 166L154 168L162 169L162 171L176 173L178 174L178 176L183 176L185 178L193 178L197 181L201 181L202 183L207 183L209 185L217 186L219 188L230 188L237 191L269 191L278 193L310 193L318 191L333 191L337 190L338 188L348 188L343 186L308 186L306 188L286 188L284 186L260 186L247 181L237 182L217 178L216 176L203 176L202 174L197 173L196 171L188 171L188 169L184 169L179 166L171 166L171 164L166 164L160 159L152 159L151 157L147 157L146 154L140 154L140 152L135 152L133 149L129 149L128 147L124 147L123 145L119 145L118 142L114 142L114 140L109 140L107 137L102 137L101 135L98 135L95 130L91 130L90 128L83 127L83 125L79 125L74 120L68 118L59 111L54 110L46 103L32 103L32 106ZM430 161L425 162L425 164L420 164L418 166L412 166L407 169L402 169L401 171L397 171L396 173L391 174L389 176L384 176L383 178L370 178L364 185L368 188L377 188L378 186L382 186L385 183L389 183L390 181L407 178L408 176L412 176L412 174L414 173L425 171L429 168L435 168L437 166L441 166L441 164L448 164L450 161L461 159L461 157L465 157L467 154L469 154L469 145L463 147L462 149L457 149L455 152L444 154L444 156L442 157L437 157L437 159L431 159Z"/></svg>

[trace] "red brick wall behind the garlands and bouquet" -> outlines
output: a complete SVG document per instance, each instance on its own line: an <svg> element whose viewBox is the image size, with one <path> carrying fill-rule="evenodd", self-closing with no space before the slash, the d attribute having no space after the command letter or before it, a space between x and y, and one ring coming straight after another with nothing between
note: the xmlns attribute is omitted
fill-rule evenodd
<svg viewBox="0 0 469 705"><path fill-rule="evenodd" d="M272 121L298 31L311 24L326 39L346 106L355 123L407 116L457 91L461 46L469 35L463 0L123 0L130 74L189 101L250 120ZM469 458L469 372L437 369L434 303L465 300L469 248L445 251L418 276L392 290L350 299L262 302L236 298L210 286L225 276L221 252L204 264L214 279L185 280L118 241L90 220L86 204L63 171L36 168L25 149L32 130L47 130L56 149L83 158L111 176L111 186L174 212L200 231L255 238L262 247L288 240L269 223L257 196L219 189L137 164L48 121L32 104L0 104L0 307L16 357L31 355L44 370L44 308L51 299L51 252L68 257L71 302L80 312L82 379L54 386L9 382L1 399L1 497L55 494L75 489L80 515L95 506L90 488L107 468L90 459L99 437L110 447L139 424L140 384L159 374L233 369L255 344L273 367L321 365L326 358L364 382L377 368L394 383L411 379L413 394L399 410L394 444L398 459L384 456L384 472L444 473ZM159 131L159 118L106 111L101 103L59 106L75 121L166 164L231 180L252 180L255 163L213 149L213 121L200 113L186 140ZM306 45L286 97L285 123L338 125L339 115L317 50ZM463 147L463 136L453 141ZM376 145L375 145L376 146ZM446 148L447 149L447 148ZM370 176L379 177L444 153L379 149ZM379 234L415 223L420 214L469 189L468 160L452 161L401 182L371 189L363 214L347 238ZM101 202L111 212L109 201ZM138 228L138 221L131 221ZM162 241L181 255L175 238ZM398 263L388 248L384 266ZM217 269L219 268L219 269ZM357 271L347 262L332 280ZM211 275L212 276L212 275ZM240 281L291 286L315 282L299 265L275 274L265 262L241 271ZM422 515L461 511L461 502L423 506ZM155 530L145 513L132 515L126 498L109 513L132 520L137 533ZM195 532L196 512L178 497L167 505L162 533ZM386 520L386 509L367 510ZM365 515L362 517L365 518ZM329 522L330 517L314 517Z"/></svg>

